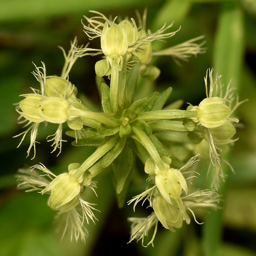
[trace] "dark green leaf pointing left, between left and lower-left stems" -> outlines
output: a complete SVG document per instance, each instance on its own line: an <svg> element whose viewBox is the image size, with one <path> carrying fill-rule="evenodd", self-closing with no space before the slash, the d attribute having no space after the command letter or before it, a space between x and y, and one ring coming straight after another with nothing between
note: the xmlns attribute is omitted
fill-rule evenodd
<svg viewBox="0 0 256 256"><path fill-rule="evenodd" d="M96 129L91 128L84 133L84 136L81 139L73 141L71 144L73 146L95 146L100 145L104 140L105 135L100 135Z"/></svg>

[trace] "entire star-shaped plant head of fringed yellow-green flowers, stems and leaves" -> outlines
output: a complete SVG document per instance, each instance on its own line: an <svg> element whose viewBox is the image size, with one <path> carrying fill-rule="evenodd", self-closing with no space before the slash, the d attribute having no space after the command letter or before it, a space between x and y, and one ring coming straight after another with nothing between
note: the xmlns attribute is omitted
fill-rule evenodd
<svg viewBox="0 0 256 256"><path fill-rule="evenodd" d="M92 212L96 210L93 207L95 204L83 199L87 188L95 192L96 186L92 179L111 167L117 203L122 207L136 170L134 159L137 156L144 164L148 176L146 179L150 183L145 192L133 197L128 204L134 203L135 210L138 202L147 201L152 213L147 218L128 219L132 222L130 242L142 239L143 245L148 230L155 226L153 237L148 243L153 245L159 221L164 228L174 231L175 228L181 228L184 221L189 224L191 214L198 223L195 208L218 208L218 194L214 190L198 190L188 180L198 173L197 158L200 156L197 152L202 151L202 143L206 143L211 163L216 166L213 186L218 188L219 176L225 175L219 167L220 148L217 145L235 141L232 139L236 133L233 122L237 123L238 119L231 115L242 102L237 97L232 107L233 89L229 89L229 86L224 96L222 90L218 92L220 76L213 79L213 70L209 72L209 93L206 73L206 98L198 106L189 105L186 110L179 109L177 104L164 107L172 92L171 87L161 94L154 92L134 101L138 78L155 80L160 75L160 70L150 64L154 56L170 55L174 60L187 60L205 51L202 48L205 42L195 43L203 37L154 52L154 40L174 36L178 31L166 33L172 24L164 25L152 33L146 29L146 12L142 18L138 15L139 26L134 19L116 23L117 17L109 20L99 12L92 13L96 16L84 16L88 22L83 24L84 32L90 40L100 37L101 48L88 48L88 44L85 47L77 46L75 39L71 42L68 54L62 49L65 64L60 77L46 76L42 62L43 67L36 67L33 72L40 83L40 90L33 89L34 93L20 95L25 99L20 101L17 111L20 118L25 118L22 122L27 121L26 125L30 125L19 134L23 134L23 140L31 131L28 154L32 147L35 148L38 125L42 122L59 124L57 132L49 140L53 141L53 151L57 148L61 151L63 123L67 123L71 129L66 134L75 138L73 146L93 145L96 150L82 164L69 164L68 172L58 176L42 164L34 165L31 169L21 169L18 186L27 191L38 190L41 194L50 194L48 205L58 211L59 216L66 218L64 234L71 224L71 239L75 236L77 241L81 237L85 242L88 230L84 227L84 219L87 224L89 219L93 222L97 220ZM98 54L104 55L95 64L102 111L94 112L77 99L77 89L69 82L68 73L78 57ZM109 85L104 76L110 78ZM172 142L169 148L164 147L163 140ZM175 154L175 142L184 146L180 156ZM43 171L47 178L40 176L35 169Z"/></svg>

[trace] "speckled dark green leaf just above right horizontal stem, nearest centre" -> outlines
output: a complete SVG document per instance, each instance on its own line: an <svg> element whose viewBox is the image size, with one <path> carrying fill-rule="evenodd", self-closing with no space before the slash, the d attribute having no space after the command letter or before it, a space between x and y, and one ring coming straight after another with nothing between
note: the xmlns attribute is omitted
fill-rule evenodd
<svg viewBox="0 0 256 256"><path fill-rule="evenodd" d="M129 109L137 114L151 111L154 108L159 95L159 92L153 92L148 97L133 102Z"/></svg>

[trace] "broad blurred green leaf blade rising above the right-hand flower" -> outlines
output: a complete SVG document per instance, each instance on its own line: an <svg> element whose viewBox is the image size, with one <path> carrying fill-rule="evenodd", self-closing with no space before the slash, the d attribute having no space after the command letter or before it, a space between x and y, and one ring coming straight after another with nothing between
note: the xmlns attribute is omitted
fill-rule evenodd
<svg viewBox="0 0 256 256"><path fill-rule="evenodd" d="M236 2L222 4L215 35L213 68L226 86L239 88L244 56L244 21Z"/></svg>

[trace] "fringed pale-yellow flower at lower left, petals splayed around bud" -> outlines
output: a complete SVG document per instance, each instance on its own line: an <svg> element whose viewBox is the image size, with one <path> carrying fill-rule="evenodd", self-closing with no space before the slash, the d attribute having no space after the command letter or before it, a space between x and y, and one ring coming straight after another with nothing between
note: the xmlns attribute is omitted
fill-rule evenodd
<svg viewBox="0 0 256 256"><path fill-rule="evenodd" d="M73 173L76 170L74 168L79 166L80 164L76 163L70 164L68 167L69 172L58 176L43 164L20 169L18 188L26 189L27 192L38 191L41 194L50 194L48 205L51 209L58 211L58 218L66 221L63 236L68 226L70 226L71 240L73 236L75 236L76 241L81 237L81 240L85 243L88 230L84 227L84 220L86 220L87 224L89 224L89 220L92 220L95 224L97 218L93 211L98 210L94 208L96 204L86 202L82 198L86 194L86 188L91 188L95 192L94 188L96 188L96 185L93 181L87 182L88 186L80 185L80 183L84 183L83 178L81 177L79 180L76 180L73 177ZM44 175L39 175L35 169L43 171Z"/></svg>

